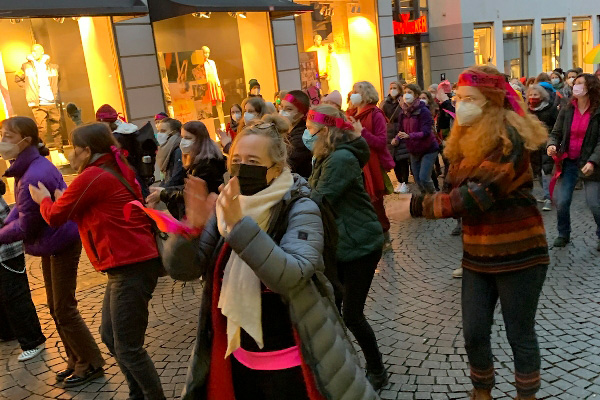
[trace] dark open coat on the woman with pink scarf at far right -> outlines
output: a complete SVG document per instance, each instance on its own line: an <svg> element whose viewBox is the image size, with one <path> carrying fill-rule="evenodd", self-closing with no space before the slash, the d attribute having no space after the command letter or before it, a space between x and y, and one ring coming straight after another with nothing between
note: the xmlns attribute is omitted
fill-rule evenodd
<svg viewBox="0 0 600 400"><path fill-rule="evenodd" d="M556 146L557 152L563 154L569 150L569 139L571 136L571 125L573 124L573 115L575 114L576 104L573 102L567 104L558 113L554 129L550 133L548 146ZM591 181L600 181L600 107L596 109L594 115L590 118L583 144L581 145L581 155L579 156L579 168L591 162L594 164L594 172L590 176L584 176L581 171L579 176L582 179Z"/></svg>

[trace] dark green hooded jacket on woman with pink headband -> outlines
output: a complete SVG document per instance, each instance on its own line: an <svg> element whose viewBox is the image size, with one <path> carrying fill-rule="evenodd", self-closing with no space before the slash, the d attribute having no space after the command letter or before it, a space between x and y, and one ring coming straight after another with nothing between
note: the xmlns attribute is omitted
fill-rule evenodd
<svg viewBox="0 0 600 400"><path fill-rule="evenodd" d="M335 211L337 258L341 262L364 257L383 246L383 230L362 177L369 157L369 145L364 138L357 138L316 160L310 177L311 197L317 203L325 197Z"/></svg>

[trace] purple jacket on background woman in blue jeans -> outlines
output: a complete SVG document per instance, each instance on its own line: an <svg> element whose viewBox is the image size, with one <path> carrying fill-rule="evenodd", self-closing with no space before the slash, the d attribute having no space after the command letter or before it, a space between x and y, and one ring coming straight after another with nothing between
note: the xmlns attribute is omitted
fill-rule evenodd
<svg viewBox="0 0 600 400"><path fill-rule="evenodd" d="M439 145L433 134L433 117L426 104L417 103L403 107L398 117L398 131L408 133L406 140L408 152L413 155L423 155L439 150ZM402 139L400 139L402 140Z"/></svg>

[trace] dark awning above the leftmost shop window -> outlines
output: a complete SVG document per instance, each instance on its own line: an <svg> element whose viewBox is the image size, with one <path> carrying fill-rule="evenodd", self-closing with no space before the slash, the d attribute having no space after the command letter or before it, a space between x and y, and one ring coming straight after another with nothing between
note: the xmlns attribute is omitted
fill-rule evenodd
<svg viewBox="0 0 600 400"><path fill-rule="evenodd" d="M0 18L98 17L148 14L142 0L0 0Z"/></svg>

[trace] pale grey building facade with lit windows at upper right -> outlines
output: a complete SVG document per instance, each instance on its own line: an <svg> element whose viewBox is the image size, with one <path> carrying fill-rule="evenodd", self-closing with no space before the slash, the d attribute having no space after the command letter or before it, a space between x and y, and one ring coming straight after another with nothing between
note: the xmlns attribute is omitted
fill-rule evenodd
<svg viewBox="0 0 600 400"><path fill-rule="evenodd" d="M492 64L512 77L595 65L583 57L599 43L594 2L443 0L429 13L432 80L456 81L467 66Z"/></svg>

